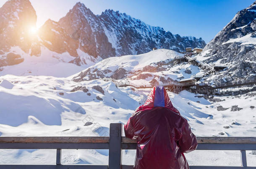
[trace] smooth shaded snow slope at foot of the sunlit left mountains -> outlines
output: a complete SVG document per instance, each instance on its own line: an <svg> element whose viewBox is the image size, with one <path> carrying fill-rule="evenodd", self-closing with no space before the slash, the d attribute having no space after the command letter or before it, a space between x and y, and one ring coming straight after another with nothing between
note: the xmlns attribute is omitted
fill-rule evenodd
<svg viewBox="0 0 256 169"><path fill-rule="evenodd" d="M85 68L94 65L101 58L94 58L87 53L78 49L79 57L86 61L86 64L77 66L76 64L69 63L74 59L68 52L56 53L50 51L45 47L41 47L40 56L30 56L25 53L18 46L10 49L12 53L17 53L24 58L24 61L17 65L3 66L0 68L0 76L8 74L16 76L55 76L55 77L68 77L78 73Z"/></svg>

